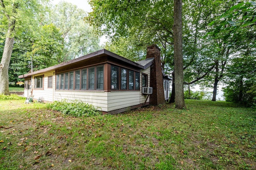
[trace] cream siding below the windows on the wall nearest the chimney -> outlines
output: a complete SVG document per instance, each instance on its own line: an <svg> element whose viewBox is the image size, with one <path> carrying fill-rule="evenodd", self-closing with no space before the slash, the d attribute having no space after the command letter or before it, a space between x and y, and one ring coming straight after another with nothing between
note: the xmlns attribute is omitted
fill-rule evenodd
<svg viewBox="0 0 256 170"><path fill-rule="evenodd" d="M108 92L108 111L135 106L139 103L139 91Z"/></svg>

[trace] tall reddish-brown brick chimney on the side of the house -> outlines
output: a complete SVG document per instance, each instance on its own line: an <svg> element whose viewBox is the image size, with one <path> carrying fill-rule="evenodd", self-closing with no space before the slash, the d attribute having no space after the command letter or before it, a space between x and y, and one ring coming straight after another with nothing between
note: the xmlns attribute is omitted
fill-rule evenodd
<svg viewBox="0 0 256 170"><path fill-rule="evenodd" d="M160 49L157 45L150 45L147 47L146 59L154 57L154 63L150 68L150 87L153 88L150 94L149 104L158 105L164 104L164 80L162 74Z"/></svg>

